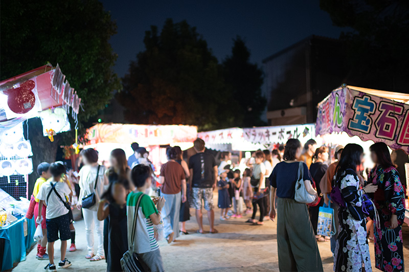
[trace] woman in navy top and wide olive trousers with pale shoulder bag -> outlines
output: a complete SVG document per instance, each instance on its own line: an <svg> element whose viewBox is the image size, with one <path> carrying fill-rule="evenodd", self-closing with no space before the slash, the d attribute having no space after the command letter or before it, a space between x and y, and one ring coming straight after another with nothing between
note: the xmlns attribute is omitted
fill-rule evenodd
<svg viewBox="0 0 409 272"><path fill-rule="evenodd" d="M323 271L320 252L316 244L307 205L294 200L302 146L299 140L289 139L285 145L284 162L276 165L269 180L270 219L276 217L277 192L277 246L280 271ZM307 191L317 193L311 186L308 167L304 167L303 180Z"/></svg>

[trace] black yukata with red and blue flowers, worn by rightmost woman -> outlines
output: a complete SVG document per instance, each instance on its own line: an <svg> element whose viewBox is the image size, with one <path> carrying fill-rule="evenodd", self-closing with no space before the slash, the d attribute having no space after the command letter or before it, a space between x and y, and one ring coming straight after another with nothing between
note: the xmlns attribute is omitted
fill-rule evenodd
<svg viewBox="0 0 409 272"><path fill-rule="evenodd" d="M374 223L375 265L382 271L404 271L402 223L405 217L404 189L394 167L380 166L371 171L369 182L378 186L374 193L380 228ZM398 227L390 228L392 214L396 214Z"/></svg>

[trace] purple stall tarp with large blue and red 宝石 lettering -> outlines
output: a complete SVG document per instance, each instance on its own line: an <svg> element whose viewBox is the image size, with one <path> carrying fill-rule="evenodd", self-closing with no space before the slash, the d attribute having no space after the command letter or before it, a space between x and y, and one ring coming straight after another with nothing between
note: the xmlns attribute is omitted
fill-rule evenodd
<svg viewBox="0 0 409 272"><path fill-rule="evenodd" d="M339 87L319 104L315 134L345 131L362 141L382 141L409 153L407 101L407 94Z"/></svg>

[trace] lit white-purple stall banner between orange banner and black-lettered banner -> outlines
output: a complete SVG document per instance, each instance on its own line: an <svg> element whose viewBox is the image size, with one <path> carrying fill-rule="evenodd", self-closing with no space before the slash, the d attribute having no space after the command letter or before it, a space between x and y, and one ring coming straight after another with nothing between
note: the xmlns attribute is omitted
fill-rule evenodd
<svg viewBox="0 0 409 272"><path fill-rule="evenodd" d="M205 141L207 148L217 151L253 151L263 148L260 144L244 140L243 129L239 127L199 132L197 137Z"/></svg>

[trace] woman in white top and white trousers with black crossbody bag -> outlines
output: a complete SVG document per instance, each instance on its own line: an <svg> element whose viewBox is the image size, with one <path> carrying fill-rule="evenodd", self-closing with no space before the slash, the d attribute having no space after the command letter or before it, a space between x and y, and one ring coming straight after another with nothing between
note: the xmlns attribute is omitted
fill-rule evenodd
<svg viewBox="0 0 409 272"><path fill-rule="evenodd" d="M78 197L77 208L82 208L82 198L95 192L95 205L87 209L82 208L82 214L85 222L85 233L88 254L85 256L90 261L99 261L105 259L104 255L104 222L97 218L98 202L104 192L104 185L108 184L108 178L105 176L105 167L98 164L98 152L92 148L83 149L80 153L84 166L78 173L79 186L81 188ZM98 177L97 177L98 176ZM95 183L97 185L95 186ZM94 190L95 187L95 190ZM97 254L94 254L94 226L98 235Z"/></svg>

